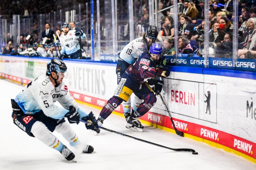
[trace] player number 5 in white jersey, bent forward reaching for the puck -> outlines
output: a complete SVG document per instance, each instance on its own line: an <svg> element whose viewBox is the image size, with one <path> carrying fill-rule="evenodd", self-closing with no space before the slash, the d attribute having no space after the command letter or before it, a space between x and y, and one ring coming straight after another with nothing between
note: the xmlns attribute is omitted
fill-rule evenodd
<svg viewBox="0 0 256 170"><path fill-rule="evenodd" d="M47 63L46 75L41 75L27 84L11 101L14 124L29 136L36 137L50 148L60 151L66 160L71 161L75 155L51 132L56 130L72 147L78 148L81 142L69 123L78 124L81 118L86 122L87 129L97 130L99 126L92 112L86 114L69 93L63 82L66 70L63 61L52 59ZM64 108L55 105L56 101ZM83 152L92 151L92 146L85 145Z"/></svg>

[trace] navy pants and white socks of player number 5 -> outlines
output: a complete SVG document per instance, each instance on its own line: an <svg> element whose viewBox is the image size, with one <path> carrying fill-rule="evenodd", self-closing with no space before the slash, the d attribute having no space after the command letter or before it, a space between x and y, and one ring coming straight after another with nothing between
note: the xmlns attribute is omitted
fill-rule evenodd
<svg viewBox="0 0 256 170"><path fill-rule="evenodd" d="M78 136L64 118L52 119L45 116L42 110L33 115L21 115L14 111L12 118L14 124L21 130L24 130L29 136L38 138L38 140L57 151L61 151L64 145L51 133L54 130L62 134L71 146L76 147L80 144Z"/></svg>

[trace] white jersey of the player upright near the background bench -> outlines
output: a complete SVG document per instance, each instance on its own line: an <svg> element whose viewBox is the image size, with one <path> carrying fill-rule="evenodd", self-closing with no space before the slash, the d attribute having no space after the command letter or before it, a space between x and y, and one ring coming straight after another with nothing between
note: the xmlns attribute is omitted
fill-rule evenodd
<svg viewBox="0 0 256 170"><path fill-rule="evenodd" d="M69 30L67 35L60 35L60 43L62 45L61 54L67 54L69 56L80 50L79 36L76 36L75 32L76 30ZM84 35L81 38L85 38Z"/></svg>

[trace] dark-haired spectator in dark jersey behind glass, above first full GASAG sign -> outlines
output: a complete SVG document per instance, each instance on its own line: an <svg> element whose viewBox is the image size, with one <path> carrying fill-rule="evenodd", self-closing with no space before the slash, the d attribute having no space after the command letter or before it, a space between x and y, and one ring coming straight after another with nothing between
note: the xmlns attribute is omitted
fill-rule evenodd
<svg viewBox="0 0 256 170"><path fill-rule="evenodd" d="M180 16L180 24L178 26L178 34L185 35L189 40L194 33L194 26L190 23L190 19L187 16L182 15Z"/></svg>

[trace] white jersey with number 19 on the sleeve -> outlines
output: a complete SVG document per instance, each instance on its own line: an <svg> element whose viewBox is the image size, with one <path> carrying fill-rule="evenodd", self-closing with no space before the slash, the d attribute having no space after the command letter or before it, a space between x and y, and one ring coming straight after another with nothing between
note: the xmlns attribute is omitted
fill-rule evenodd
<svg viewBox="0 0 256 170"><path fill-rule="evenodd" d="M127 63L132 64L135 58L138 58L140 54L148 50L147 43L143 40L143 37L139 37L127 44L120 52L119 57Z"/></svg>

